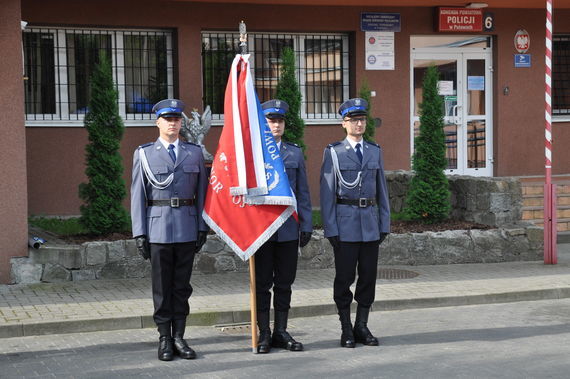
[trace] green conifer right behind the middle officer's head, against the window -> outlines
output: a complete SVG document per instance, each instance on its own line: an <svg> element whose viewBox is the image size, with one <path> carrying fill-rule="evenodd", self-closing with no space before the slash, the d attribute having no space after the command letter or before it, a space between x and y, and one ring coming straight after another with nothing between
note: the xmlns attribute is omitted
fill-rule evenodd
<svg viewBox="0 0 570 379"><path fill-rule="evenodd" d="M281 60L281 75L275 98L289 104L289 111L285 115L283 140L296 143L305 151L306 146L303 140L305 122L301 118L301 91L297 78L295 78L295 53L290 47L283 49Z"/></svg>

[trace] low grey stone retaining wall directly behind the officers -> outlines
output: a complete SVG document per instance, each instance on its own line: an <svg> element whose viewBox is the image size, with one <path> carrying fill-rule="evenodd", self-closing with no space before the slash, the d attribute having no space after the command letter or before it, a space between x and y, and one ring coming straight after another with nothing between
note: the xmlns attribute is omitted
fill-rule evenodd
<svg viewBox="0 0 570 379"><path fill-rule="evenodd" d="M542 228L531 225L491 230L389 235L380 246L379 265L426 265L540 260ZM299 269L334 267L332 248L322 230L301 250ZM194 261L195 272L247 271L215 235L210 235ZM29 257L12 258L15 283L123 279L150 276L150 263L137 254L133 240L86 242L80 246L42 246Z"/></svg>

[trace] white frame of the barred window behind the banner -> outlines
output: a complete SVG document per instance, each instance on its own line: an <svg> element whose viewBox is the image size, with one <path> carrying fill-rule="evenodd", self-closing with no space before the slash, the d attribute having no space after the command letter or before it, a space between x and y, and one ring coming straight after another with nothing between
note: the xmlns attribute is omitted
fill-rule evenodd
<svg viewBox="0 0 570 379"><path fill-rule="evenodd" d="M204 41L204 37L214 37L216 35L232 35L235 36L235 40L239 39L239 33L237 32L228 32L228 31L221 31L221 30L202 30L200 33L200 41ZM306 124L314 124L314 125L330 125L336 124L341 120L341 117L338 115L336 110L331 113L307 113L307 101L306 101L306 94L307 94L307 85L306 85L306 76L309 70L317 70L317 69L310 69L305 66L306 63L306 52L305 52L305 41L307 39L311 39L314 37L326 37L326 36L333 36L340 39L342 44L341 54L341 78L342 78L342 89L341 89L341 102L338 104L342 104L343 101L346 101L350 98L350 34L349 33L288 33L288 32L250 32L247 35L248 38L248 47L255 47L255 38L262 36L262 38L269 38L269 39L287 39L290 38L293 40L293 51L295 52L295 61L297 67L295 69L295 77L297 78L297 82L299 83L299 87L301 88L301 118L305 121ZM321 39L323 40L323 39ZM252 57L250 58L250 70L252 75L252 80L255 83L255 51L249 51ZM202 75L202 83L204 83L204 59L203 59L203 50L201 55L201 75ZM202 86L202 91L204 91L204 87ZM204 107L208 104L202 104ZM221 114L212 114L212 125L223 125L224 122L224 115Z"/></svg>

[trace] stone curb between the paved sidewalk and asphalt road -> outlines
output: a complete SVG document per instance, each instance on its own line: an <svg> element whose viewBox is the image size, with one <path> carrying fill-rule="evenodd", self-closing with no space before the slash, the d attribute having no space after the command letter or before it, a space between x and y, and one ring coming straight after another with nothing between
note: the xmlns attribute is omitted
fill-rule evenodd
<svg viewBox="0 0 570 379"><path fill-rule="evenodd" d="M393 311L419 308L436 308L476 304L496 304L516 301L536 301L570 298L570 287L540 290L489 293L465 296L442 296L430 298L410 298L397 300L378 300L373 311ZM353 304L355 305L355 304ZM331 304L300 305L291 308L290 318L312 317L336 314L336 306ZM222 310L192 313L188 318L191 326L214 326L247 323L250 320L249 309ZM154 328L151 315L96 318L83 320L61 320L53 322L18 323L0 325L0 338L13 338L62 333L96 332L121 329Z"/></svg>

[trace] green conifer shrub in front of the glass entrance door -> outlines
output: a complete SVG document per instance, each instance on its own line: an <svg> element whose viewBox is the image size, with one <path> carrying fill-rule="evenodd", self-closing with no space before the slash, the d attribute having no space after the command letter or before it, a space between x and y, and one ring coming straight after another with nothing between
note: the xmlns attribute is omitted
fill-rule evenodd
<svg viewBox="0 0 570 379"><path fill-rule="evenodd" d="M445 176L445 135L443 98L438 95L439 72L430 66L423 81L420 104L420 133L415 139L412 158L413 176L404 214L407 219L434 223L449 217L449 184Z"/></svg>

